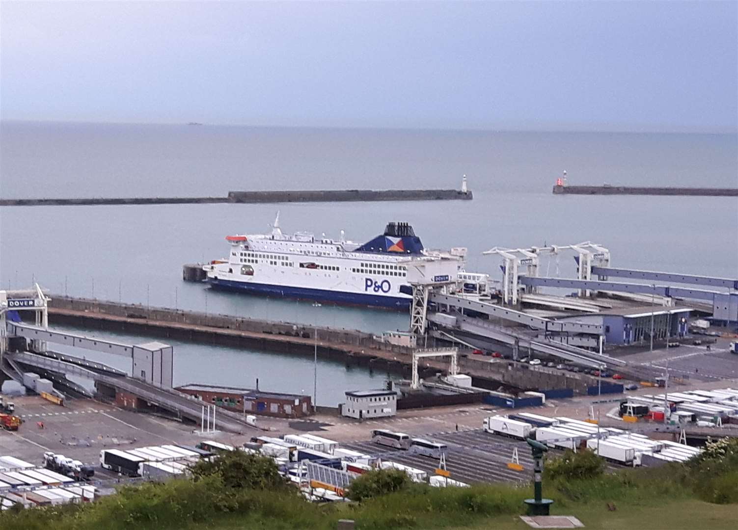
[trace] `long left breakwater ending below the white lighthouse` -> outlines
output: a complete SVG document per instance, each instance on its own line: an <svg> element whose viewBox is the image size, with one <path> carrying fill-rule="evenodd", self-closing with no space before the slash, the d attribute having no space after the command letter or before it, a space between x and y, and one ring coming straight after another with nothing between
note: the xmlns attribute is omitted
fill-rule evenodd
<svg viewBox="0 0 738 530"><path fill-rule="evenodd" d="M458 189L323 189L228 192L226 197L28 198L0 199L0 206L100 206L133 204L329 203L362 201L470 201Z"/></svg>

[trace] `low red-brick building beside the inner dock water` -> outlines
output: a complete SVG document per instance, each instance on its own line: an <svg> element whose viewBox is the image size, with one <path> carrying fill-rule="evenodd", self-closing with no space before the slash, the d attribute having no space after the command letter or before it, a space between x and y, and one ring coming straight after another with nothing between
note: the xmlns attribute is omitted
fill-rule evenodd
<svg viewBox="0 0 738 530"><path fill-rule="evenodd" d="M246 414L279 418L301 418L313 413L310 396L300 394L210 385L185 385L176 389L209 405L218 405L234 412L246 411Z"/></svg>

